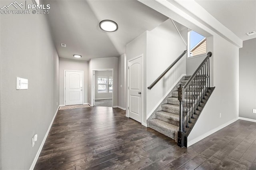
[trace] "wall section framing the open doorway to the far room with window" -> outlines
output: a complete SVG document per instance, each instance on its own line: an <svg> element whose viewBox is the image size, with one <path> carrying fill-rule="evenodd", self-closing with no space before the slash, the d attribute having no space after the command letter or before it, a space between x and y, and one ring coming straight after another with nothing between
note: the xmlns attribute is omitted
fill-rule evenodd
<svg viewBox="0 0 256 170"><path fill-rule="evenodd" d="M113 69L113 106L118 106L118 57L98 58L89 61L89 101L92 105L92 71L100 69Z"/></svg>

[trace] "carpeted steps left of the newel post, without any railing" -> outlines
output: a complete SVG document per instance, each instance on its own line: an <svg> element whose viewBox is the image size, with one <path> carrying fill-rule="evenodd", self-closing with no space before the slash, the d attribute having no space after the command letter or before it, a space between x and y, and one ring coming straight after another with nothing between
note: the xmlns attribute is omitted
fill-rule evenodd
<svg viewBox="0 0 256 170"><path fill-rule="evenodd" d="M183 76L174 89L167 95L147 120L147 126L174 139L180 124L180 101L178 101L179 84L185 84L191 76Z"/></svg>

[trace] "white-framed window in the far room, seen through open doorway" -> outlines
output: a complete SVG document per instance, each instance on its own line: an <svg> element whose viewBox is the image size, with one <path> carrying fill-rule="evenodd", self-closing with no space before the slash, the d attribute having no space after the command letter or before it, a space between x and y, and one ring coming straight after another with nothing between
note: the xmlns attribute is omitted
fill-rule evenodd
<svg viewBox="0 0 256 170"><path fill-rule="evenodd" d="M112 93L113 78L112 77L98 77L98 93Z"/></svg>

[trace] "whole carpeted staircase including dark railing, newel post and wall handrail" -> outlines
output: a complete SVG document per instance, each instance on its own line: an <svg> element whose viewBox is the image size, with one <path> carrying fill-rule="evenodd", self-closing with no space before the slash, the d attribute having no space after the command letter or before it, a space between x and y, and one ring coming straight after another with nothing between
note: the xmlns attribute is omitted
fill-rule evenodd
<svg viewBox="0 0 256 170"><path fill-rule="evenodd" d="M187 50L148 89L152 89L186 52ZM174 139L181 148L187 147L188 135L215 89L210 87L211 56L212 52L208 52L193 75L183 76L147 120L148 127Z"/></svg>

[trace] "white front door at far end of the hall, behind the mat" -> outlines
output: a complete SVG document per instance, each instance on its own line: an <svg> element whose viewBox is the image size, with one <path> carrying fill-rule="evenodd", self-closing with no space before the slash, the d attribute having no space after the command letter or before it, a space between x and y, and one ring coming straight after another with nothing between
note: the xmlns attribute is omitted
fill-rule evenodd
<svg viewBox="0 0 256 170"><path fill-rule="evenodd" d="M65 71L65 105L83 104L83 72Z"/></svg>

